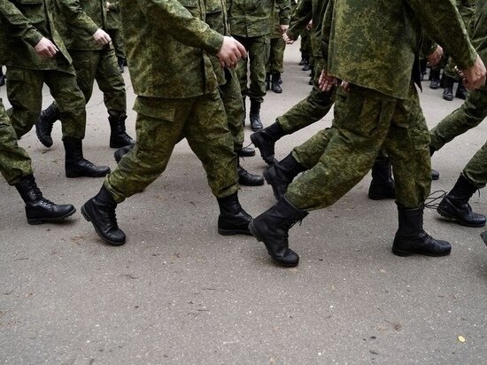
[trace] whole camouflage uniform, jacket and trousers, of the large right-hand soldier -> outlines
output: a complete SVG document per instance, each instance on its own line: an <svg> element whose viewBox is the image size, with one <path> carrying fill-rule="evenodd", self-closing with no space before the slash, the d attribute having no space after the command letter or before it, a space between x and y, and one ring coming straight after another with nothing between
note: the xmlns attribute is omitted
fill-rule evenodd
<svg viewBox="0 0 487 365"><path fill-rule="evenodd" d="M398 204L422 206L429 194L430 161L429 133L411 76L421 39L418 19L460 67L468 68L476 53L458 13L446 0L377 0L367 6L336 0L327 14L332 21L323 31L329 74L351 86L337 92L336 132L326 152L290 184L286 198L301 210L332 205L367 174L383 146L394 167Z"/></svg>

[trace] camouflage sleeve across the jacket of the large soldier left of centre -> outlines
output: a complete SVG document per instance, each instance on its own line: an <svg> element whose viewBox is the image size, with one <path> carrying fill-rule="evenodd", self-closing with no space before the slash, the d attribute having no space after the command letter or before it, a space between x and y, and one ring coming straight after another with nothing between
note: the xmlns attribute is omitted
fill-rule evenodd
<svg viewBox="0 0 487 365"><path fill-rule="evenodd" d="M203 20L193 17L177 0L135 0L151 27L161 36L171 35L190 47L201 48L211 54L220 51L223 35L211 29Z"/></svg>

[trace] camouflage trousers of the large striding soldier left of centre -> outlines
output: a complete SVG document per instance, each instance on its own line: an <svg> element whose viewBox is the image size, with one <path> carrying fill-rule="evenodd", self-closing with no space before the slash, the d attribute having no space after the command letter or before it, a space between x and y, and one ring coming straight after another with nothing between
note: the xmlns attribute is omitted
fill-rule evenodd
<svg viewBox="0 0 487 365"><path fill-rule="evenodd" d="M216 198L238 190L236 154L216 89L184 99L137 97L135 111L135 148L104 181L116 202L142 191L162 174L180 136L202 162Z"/></svg>

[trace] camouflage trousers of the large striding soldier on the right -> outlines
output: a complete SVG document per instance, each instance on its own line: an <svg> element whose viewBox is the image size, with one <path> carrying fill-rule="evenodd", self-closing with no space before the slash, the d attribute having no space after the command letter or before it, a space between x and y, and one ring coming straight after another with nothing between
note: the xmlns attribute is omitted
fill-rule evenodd
<svg viewBox="0 0 487 365"><path fill-rule="evenodd" d="M327 143L326 150L290 184L286 198L303 210L331 206L367 174L383 148L394 170L398 203L422 206L431 184L429 133L413 82L405 100L356 85L336 95L336 128L314 137L315 144ZM313 151L313 144L308 148Z"/></svg>

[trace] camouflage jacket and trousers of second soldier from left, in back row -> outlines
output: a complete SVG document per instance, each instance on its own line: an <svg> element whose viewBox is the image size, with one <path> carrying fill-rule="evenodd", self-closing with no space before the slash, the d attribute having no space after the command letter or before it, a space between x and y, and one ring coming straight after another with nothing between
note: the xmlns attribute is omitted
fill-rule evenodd
<svg viewBox="0 0 487 365"><path fill-rule="evenodd" d="M104 93L104 105L112 116L125 115L127 100L125 82L112 44L99 45L93 34L106 28L104 0L55 0L62 14L59 34L73 58L78 86L88 103L93 83Z"/></svg>

